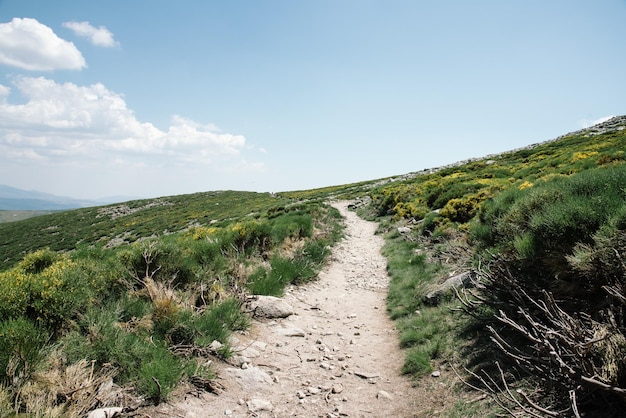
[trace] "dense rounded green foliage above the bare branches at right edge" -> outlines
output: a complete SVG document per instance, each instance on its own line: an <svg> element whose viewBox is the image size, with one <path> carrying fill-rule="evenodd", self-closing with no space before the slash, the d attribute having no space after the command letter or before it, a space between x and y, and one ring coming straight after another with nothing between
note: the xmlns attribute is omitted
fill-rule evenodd
<svg viewBox="0 0 626 418"><path fill-rule="evenodd" d="M589 243L623 205L625 167L588 170L503 192L485 205L472 236L483 248L497 246L562 265L576 244Z"/></svg>

